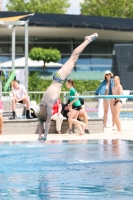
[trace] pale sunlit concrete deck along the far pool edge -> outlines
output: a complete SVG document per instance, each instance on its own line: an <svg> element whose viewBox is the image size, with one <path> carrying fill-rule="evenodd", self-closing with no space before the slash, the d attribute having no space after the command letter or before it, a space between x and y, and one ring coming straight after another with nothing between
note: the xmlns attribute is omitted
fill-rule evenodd
<svg viewBox="0 0 133 200"><path fill-rule="evenodd" d="M74 134L48 134L47 141L61 142L64 140L99 140L99 139L123 139L133 140L133 119L123 119L122 123L122 134L116 134L112 127L104 129L103 133L92 133L85 135ZM0 142L36 142L38 134L10 134L0 135Z"/></svg>

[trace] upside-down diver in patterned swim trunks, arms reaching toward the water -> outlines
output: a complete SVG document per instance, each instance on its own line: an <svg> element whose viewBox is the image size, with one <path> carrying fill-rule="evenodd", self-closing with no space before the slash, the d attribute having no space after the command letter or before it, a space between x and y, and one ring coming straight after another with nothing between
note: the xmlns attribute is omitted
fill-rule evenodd
<svg viewBox="0 0 133 200"><path fill-rule="evenodd" d="M55 101L60 97L62 83L67 79L70 75L71 71L74 68L74 65L85 49L85 47L95 40L98 37L97 33L94 33L90 36L86 36L85 40L82 44L80 44L72 53L69 60L59 69L53 76L53 81L51 85L48 87L46 92L43 95L43 98L39 104L39 112L36 113L39 119L39 137L38 140L46 140L47 134L49 132L51 116L52 116L52 107ZM42 138L43 130L44 130L44 122L45 122L45 132L44 137Z"/></svg>

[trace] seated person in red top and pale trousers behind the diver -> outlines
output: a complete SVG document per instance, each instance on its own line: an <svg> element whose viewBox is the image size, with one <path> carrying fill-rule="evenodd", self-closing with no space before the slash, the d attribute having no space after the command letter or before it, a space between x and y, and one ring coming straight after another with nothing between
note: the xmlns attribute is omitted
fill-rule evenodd
<svg viewBox="0 0 133 200"><path fill-rule="evenodd" d="M61 114L62 105L61 100L58 98L52 108L52 120L56 121L56 133L61 134L61 125L63 122L63 115Z"/></svg>

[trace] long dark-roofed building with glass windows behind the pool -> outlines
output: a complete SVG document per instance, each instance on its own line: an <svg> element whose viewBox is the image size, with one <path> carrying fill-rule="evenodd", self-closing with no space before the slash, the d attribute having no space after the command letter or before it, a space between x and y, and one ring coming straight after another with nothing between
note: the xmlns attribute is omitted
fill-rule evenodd
<svg viewBox="0 0 133 200"><path fill-rule="evenodd" d="M22 15L18 12L0 12L0 18ZM86 35L97 32L99 37L86 47L75 64L74 71L92 73L93 76L105 70L112 70L116 44L132 44L132 19L92 17L82 15L38 14L29 20L29 51L33 47L57 48L61 52L59 63L64 64ZM0 31L0 62L11 60L12 30ZM16 28L16 58L24 57L24 27ZM34 68L30 70L42 70ZM47 68L47 72L57 70Z"/></svg>

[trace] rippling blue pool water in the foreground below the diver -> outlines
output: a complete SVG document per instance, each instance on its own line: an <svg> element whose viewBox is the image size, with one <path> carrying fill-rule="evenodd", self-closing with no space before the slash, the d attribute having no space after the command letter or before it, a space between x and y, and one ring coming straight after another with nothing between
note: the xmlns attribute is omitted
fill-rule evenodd
<svg viewBox="0 0 133 200"><path fill-rule="evenodd" d="M0 145L1 200L133 199L133 142Z"/></svg>

